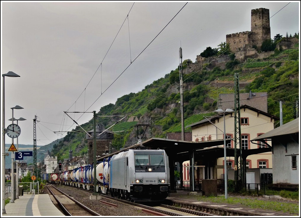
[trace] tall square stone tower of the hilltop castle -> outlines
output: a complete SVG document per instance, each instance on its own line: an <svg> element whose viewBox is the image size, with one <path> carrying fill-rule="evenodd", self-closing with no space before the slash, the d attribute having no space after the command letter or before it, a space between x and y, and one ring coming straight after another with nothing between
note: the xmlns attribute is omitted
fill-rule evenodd
<svg viewBox="0 0 301 218"><path fill-rule="evenodd" d="M262 42L271 39L270 10L266 8L256 8L251 10L251 32L253 32L253 42L260 48Z"/></svg>

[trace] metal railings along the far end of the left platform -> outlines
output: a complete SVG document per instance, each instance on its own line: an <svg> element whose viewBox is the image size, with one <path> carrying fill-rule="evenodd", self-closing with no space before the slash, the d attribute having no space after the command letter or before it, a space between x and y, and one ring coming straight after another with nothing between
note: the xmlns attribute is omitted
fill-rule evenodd
<svg viewBox="0 0 301 218"><path fill-rule="evenodd" d="M21 186L21 187L20 187ZM15 187L14 194L16 196L16 188L19 188L19 196L22 195L23 193L28 194L30 192L33 193L33 189L35 190L35 194L39 194L39 181L38 182L19 182L19 187ZM21 188L21 189L20 189ZM20 193L20 190L22 190L22 193ZM11 198L11 183L5 183L5 199L6 198Z"/></svg>

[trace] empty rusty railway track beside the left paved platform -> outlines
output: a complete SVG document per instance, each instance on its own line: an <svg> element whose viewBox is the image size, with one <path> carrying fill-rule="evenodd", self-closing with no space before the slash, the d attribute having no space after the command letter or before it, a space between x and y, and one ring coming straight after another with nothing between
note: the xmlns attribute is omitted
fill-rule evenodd
<svg viewBox="0 0 301 218"><path fill-rule="evenodd" d="M54 186L48 185L47 188L66 216L101 216Z"/></svg>

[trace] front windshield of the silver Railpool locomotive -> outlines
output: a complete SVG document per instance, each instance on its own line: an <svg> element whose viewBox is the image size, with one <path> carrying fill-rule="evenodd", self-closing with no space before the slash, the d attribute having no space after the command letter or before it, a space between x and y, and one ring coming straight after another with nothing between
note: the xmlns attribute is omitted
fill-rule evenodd
<svg viewBox="0 0 301 218"><path fill-rule="evenodd" d="M152 165L164 166L163 154L135 154L135 166Z"/></svg>

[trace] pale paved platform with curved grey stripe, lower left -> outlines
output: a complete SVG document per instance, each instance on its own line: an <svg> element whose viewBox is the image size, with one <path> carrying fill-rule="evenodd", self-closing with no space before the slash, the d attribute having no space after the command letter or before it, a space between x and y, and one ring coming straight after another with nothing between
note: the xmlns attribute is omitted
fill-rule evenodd
<svg viewBox="0 0 301 218"><path fill-rule="evenodd" d="M48 194L24 194L5 205L2 216L65 216L53 204ZM2 217L1 216L1 217Z"/></svg>

